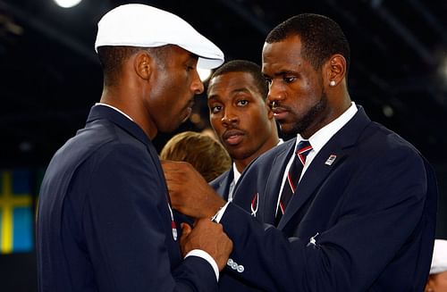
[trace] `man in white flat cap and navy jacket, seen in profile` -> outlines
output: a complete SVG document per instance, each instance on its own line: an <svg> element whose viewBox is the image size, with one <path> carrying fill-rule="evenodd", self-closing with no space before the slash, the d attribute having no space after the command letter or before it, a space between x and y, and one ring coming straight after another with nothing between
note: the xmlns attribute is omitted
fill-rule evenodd
<svg viewBox="0 0 447 292"><path fill-rule="evenodd" d="M95 49L101 100L56 152L40 188L38 290L217 290L232 241L209 219L194 229L176 224L151 140L189 117L204 90L196 67L219 66L222 51L176 15L143 4L106 13Z"/></svg>

